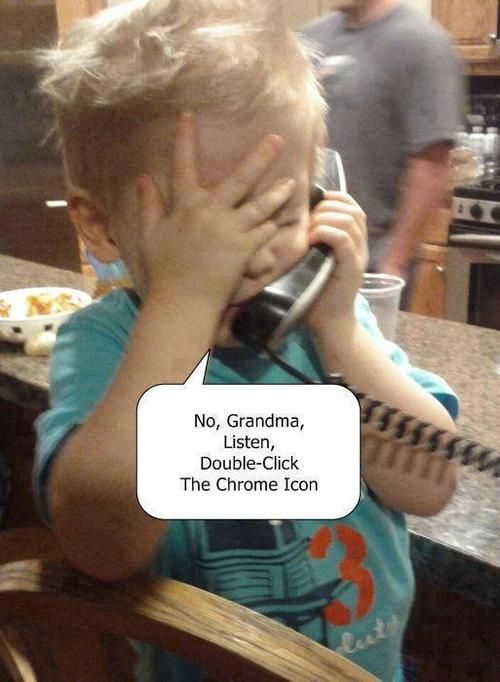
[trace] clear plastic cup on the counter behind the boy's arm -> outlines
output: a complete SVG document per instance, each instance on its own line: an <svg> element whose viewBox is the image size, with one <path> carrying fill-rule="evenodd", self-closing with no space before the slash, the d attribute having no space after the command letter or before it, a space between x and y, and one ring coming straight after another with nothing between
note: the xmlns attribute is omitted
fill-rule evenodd
<svg viewBox="0 0 500 682"><path fill-rule="evenodd" d="M395 275L365 273L359 290L370 304L380 331L388 341L396 338L401 292L406 282Z"/></svg>

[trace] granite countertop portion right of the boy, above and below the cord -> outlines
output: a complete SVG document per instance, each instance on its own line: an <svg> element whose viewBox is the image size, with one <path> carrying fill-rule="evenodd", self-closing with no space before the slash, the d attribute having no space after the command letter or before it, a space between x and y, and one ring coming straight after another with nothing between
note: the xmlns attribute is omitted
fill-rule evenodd
<svg viewBox="0 0 500 682"><path fill-rule="evenodd" d="M460 398L460 435L500 451L500 332L400 313L399 345ZM500 479L460 468L458 490L431 518L409 517L417 573L500 606Z"/></svg>

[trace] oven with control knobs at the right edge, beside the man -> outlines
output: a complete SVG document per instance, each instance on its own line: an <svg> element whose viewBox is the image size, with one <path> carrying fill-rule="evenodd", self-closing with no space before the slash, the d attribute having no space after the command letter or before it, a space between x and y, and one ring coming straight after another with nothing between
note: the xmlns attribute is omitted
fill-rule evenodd
<svg viewBox="0 0 500 682"><path fill-rule="evenodd" d="M448 247L448 319L500 330L500 176L455 188Z"/></svg>

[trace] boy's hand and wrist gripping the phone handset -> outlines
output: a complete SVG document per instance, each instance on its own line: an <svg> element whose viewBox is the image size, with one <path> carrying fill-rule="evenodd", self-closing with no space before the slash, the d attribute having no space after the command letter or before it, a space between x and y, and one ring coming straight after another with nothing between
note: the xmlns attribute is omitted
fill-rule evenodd
<svg viewBox="0 0 500 682"><path fill-rule="evenodd" d="M338 320L354 320L354 298L368 263L366 215L343 192L326 192L311 216L311 244L327 244L335 256L330 281L306 321L321 334Z"/></svg>

